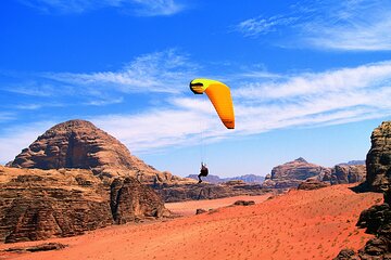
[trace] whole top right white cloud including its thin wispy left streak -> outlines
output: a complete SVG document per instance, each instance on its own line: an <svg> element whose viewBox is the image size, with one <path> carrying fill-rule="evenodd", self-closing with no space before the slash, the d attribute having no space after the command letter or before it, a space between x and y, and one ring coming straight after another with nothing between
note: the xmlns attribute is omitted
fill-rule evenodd
<svg viewBox="0 0 391 260"><path fill-rule="evenodd" d="M342 51L391 50L391 2L303 1L282 15L249 18L236 26L244 37L279 31L278 46Z"/></svg>

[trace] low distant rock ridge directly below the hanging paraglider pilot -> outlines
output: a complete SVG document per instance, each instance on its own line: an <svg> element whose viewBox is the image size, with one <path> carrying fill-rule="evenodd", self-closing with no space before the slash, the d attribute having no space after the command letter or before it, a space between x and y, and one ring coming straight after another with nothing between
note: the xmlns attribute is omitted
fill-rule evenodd
<svg viewBox="0 0 391 260"><path fill-rule="evenodd" d="M154 190L161 195L165 203L184 200L213 199L241 195L263 195L270 192L260 184L247 184L242 181L224 184L186 184L186 185L160 185Z"/></svg>

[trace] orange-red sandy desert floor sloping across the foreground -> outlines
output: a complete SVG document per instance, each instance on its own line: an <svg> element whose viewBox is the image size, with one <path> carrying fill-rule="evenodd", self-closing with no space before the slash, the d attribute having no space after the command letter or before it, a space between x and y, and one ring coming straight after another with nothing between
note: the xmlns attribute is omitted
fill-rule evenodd
<svg viewBox="0 0 391 260"><path fill-rule="evenodd" d="M188 202L175 207L189 213L194 208L209 209L211 204L226 205L228 199ZM291 191L254 206L225 207L198 216L49 239L46 243L68 247L3 253L0 259L332 259L342 248L358 249L373 237L355 223L362 210L381 202L381 194L355 194L349 185ZM1 244L0 250L36 244L42 242Z"/></svg>

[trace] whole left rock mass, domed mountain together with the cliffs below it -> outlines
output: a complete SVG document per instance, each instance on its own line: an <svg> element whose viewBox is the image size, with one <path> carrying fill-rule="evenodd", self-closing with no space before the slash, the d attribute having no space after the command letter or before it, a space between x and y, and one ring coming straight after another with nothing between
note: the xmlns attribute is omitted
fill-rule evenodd
<svg viewBox="0 0 391 260"><path fill-rule="evenodd" d="M146 165L84 120L52 127L10 166L0 168L3 242L71 236L165 216L160 196L140 181L152 185L182 180Z"/></svg>

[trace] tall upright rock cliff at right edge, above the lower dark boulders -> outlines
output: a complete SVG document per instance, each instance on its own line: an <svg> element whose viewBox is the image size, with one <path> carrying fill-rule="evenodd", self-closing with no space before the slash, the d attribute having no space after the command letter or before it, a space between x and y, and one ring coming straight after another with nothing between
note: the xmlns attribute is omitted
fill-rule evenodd
<svg viewBox="0 0 391 260"><path fill-rule="evenodd" d="M376 128L370 140L364 187L375 192L387 191L391 187L391 121L384 121Z"/></svg>

